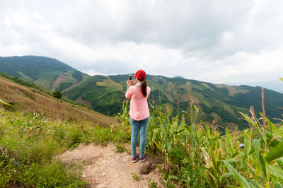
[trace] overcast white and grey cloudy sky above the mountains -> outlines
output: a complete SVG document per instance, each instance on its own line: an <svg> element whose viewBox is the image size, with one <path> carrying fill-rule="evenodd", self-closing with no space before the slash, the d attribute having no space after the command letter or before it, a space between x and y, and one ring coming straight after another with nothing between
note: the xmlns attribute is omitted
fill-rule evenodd
<svg viewBox="0 0 283 188"><path fill-rule="evenodd" d="M0 56L212 83L283 76L282 0L0 0Z"/></svg>

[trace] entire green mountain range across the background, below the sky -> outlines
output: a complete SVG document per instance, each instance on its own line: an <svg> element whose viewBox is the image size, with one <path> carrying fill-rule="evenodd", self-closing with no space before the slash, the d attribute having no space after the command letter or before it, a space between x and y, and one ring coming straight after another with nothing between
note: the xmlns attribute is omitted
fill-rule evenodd
<svg viewBox="0 0 283 188"><path fill-rule="evenodd" d="M128 75L88 76L56 59L47 57L0 57L0 71L18 76L48 90L60 90L63 95L76 102L90 106L107 115L120 112L125 100ZM246 128L238 112L248 113L250 106L261 111L261 88L252 86L226 86L202 81L188 80L177 76L149 75L146 78L151 87L149 102L166 103L173 114L188 111L190 101L200 107L200 119L218 123L233 129L237 125ZM283 85L283 83L282 83ZM162 97L161 97L162 96ZM278 107L283 107L283 94L265 89L267 117L282 118ZM258 114L258 113L257 113Z"/></svg>

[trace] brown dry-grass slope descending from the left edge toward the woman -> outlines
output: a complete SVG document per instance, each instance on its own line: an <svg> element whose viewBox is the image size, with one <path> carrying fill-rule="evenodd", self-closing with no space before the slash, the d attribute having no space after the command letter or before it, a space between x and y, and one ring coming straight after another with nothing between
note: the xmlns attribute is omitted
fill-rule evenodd
<svg viewBox="0 0 283 188"><path fill-rule="evenodd" d="M57 101L50 95L34 88L27 88L18 83L13 83L0 77L0 98L6 102L13 102L13 109L28 113L44 113L54 119L68 119L68 121L87 121L108 127L116 124L113 117L105 116L86 107L72 105L67 102Z"/></svg>

